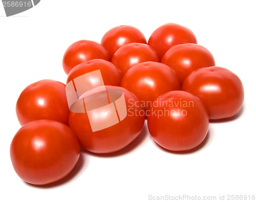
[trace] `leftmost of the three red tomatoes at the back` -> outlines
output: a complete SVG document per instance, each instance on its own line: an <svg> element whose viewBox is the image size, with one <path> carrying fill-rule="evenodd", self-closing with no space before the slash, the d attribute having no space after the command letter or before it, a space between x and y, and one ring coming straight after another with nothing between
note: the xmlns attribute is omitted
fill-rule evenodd
<svg viewBox="0 0 256 202"><path fill-rule="evenodd" d="M68 74L74 66L92 59L111 60L108 51L101 44L90 40L80 40L68 47L63 56L62 66Z"/></svg>

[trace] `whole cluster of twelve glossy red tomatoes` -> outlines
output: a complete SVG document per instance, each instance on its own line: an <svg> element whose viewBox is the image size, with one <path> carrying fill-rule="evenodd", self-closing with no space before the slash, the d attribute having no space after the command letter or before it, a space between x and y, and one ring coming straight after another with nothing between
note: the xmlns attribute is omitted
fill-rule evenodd
<svg viewBox="0 0 256 202"><path fill-rule="evenodd" d="M86 82L97 87L103 80L108 97L118 97L121 91L125 118L93 131L87 112L70 111L65 84L42 80L26 87L16 104L22 128L11 142L10 156L16 173L31 184L66 176L78 161L79 145L93 153L124 148L140 134L145 119L163 148L195 148L205 139L210 119L234 116L243 105L244 90L237 75L215 66L214 57L197 44L194 33L175 23L157 28L148 41L132 26L111 29L101 44L77 41L66 50L62 66L67 85L100 70ZM105 96L98 94L97 99ZM94 121L100 125L111 119L111 113L94 114Z"/></svg>

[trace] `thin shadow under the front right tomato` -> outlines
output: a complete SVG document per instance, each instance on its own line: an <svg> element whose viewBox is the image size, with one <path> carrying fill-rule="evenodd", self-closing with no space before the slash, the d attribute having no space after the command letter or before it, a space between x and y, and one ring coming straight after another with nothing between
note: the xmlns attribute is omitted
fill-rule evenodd
<svg viewBox="0 0 256 202"><path fill-rule="evenodd" d="M198 150L202 149L203 147L205 147L206 144L209 143L209 141L211 141L212 139L212 134L210 132L210 129L208 130L208 133L206 135L206 137L204 138L204 140L198 145L196 146L195 148L193 149L189 149L189 150L186 150L186 151L172 151L172 150L168 150L162 146L160 146L159 144L157 144L155 142L155 144L157 145L157 147L159 147L160 149L162 149L164 152L167 152L167 153L170 153L170 154L179 154L179 155L185 155L185 154L191 154L191 153L195 153L197 152Z"/></svg>

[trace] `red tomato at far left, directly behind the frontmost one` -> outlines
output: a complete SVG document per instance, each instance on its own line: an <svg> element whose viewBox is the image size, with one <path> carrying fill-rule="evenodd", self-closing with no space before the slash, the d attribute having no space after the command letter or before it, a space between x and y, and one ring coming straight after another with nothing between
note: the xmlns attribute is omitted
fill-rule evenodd
<svg viewBox="0 0 256 202"><path fill-rule="evenodd" d="M54 80L41 80L30 84L20 93L16 103L16 115L20 125L38 119L51 119L68 124L69 113L66 85Z"/></svg>

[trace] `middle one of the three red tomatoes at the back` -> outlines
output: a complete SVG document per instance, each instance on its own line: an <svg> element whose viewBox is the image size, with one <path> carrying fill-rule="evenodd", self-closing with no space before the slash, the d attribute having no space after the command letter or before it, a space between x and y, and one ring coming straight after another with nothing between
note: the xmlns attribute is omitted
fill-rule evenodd
<svg viewBox="0 0 256 202"><path fill-rule="evenodd" d="M122 45L134 42L146 43L146 38L137 28L127 25L112 28L101 39L101 44L108 50L111 57Z"/></svg>

